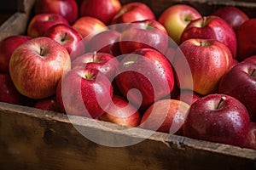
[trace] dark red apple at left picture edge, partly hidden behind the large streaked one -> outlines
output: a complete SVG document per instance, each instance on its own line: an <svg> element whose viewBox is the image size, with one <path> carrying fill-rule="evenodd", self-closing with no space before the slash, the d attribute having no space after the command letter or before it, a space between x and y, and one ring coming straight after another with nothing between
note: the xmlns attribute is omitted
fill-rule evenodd
<svg viewBox="0 0 256 170"><path fill-rule="evenodd" d="M25 35L15 35L5 37L0 41L0 72L9 73L9 59L15 48L18 48L20 44L31 40L32 37Z"/></svg>

